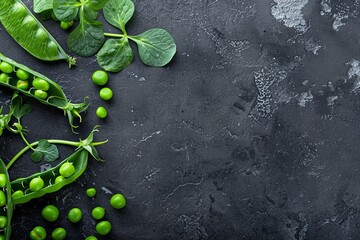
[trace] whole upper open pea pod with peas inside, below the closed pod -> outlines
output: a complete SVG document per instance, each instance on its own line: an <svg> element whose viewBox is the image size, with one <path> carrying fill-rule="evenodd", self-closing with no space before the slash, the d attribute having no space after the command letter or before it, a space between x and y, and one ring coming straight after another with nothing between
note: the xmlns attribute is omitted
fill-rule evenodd
<svg viewBox="0 0 360 240"><path fill-rule="evenodd" d="M56 82L1 53L0 61L10 64L13 68L10 73L0 70L0 86L9 87L43 104L62 109L65 115L67 115L72 128L76 128L74 126L74 117L78 117L81 122L80 113L84 112L88 107L85 101L82 103L71 103ZM17 71L21 71L22 74L17 74ZM42 84L40 86L35 84L35 82L39 82L39 79L43 80L42 82L40 81L40 84Z"/></svg>

